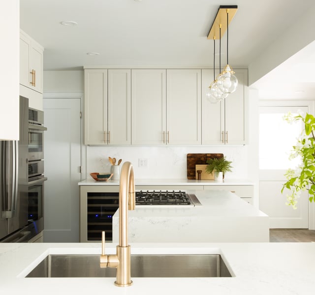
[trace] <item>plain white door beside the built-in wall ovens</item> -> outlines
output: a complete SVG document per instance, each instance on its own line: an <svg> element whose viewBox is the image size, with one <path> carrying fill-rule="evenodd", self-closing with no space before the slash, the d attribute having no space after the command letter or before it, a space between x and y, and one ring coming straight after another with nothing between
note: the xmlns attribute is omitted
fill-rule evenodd
<svg viewBox="0 0 315 295"><path fill-rule="evenodd" d="M80 242L81 99L44 99L44 242Z"/></svg>

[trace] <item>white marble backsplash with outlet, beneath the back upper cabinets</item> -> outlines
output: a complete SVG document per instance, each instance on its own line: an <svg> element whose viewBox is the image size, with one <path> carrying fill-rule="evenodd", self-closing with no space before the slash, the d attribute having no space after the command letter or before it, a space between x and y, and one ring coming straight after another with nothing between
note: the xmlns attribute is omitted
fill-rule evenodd
<svg viewBox="0 0 315 295"><path fill-rule="evenodd" d="M231 179L249 179L248 146L236 147L87 147L87 177L91 172L108 172L108 157L133 164L137 179L187 179L188 153L223 153L232 161ZM139 167L140 158L147 159L147 167ZM121 165L122 165L121 164Z"/></svg>

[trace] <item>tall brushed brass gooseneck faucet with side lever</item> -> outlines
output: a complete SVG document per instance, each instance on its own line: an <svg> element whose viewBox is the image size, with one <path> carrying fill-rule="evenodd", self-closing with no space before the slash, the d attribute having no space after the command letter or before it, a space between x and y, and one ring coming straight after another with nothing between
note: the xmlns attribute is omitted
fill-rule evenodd
<svg viewBox="0 0 315 295"><path fill-rule="evenodd" d="M100 267L117 268L115 285L127 287L132 285L130 276L131 248L128 245L128 210L135 208L134 175L130 162L125 162L119 183L119 245L116 255L105 255L105 232L102 232L102 255Z"/></svg>

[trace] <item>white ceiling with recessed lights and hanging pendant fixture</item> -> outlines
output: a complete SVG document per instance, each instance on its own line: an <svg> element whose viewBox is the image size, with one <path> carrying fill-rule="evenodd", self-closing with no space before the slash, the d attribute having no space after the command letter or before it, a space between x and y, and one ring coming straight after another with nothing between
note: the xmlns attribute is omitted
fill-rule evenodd
<svg viewBox="0 0 315 295"><path fill-rule="evenodd" d="M314 0L301 7L296 0L20 0L20 27L45 48L44 70L212 67L213 41L206 36L219 6L229 4L238 5L229 26L229 64L247 68ZM222 64L225 53L226 34Z"/></svg>

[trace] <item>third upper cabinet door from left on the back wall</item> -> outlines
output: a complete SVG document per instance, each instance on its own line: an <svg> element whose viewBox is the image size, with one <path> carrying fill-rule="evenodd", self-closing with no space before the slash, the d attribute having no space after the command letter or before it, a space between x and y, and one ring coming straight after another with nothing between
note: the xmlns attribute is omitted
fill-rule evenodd
<svg viewBox="0 0 315 295"><path fill-rule="evenodd" d="M131 143L166 142L166 70L131 70Z"/></svg>

